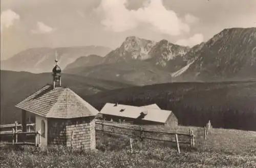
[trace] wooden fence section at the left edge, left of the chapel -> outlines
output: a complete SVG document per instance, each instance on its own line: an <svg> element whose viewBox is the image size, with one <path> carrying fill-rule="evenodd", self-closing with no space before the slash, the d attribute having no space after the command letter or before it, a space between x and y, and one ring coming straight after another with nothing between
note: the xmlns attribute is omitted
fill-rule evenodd
<svg viewBox="0 0 256 168"><path fill-rule="evenodd" d="M21 129L18 129L18 127L22 127L22 124L18 124L18 122L15 121L14 124L6 124L6 125L0 125L0 135L1 136L8 136L8 135L12 135L12 142L11 143L5 143L7 145L33 145L33 146L40 146L41 145L41 133L40 130L39 131L31 131L34 129L31 129L30 127L34 127L35 124L27 124L28 127L28 132L22 132ZM10 131L2 131L3 128L12 128L12 130ZM18 135L23 136L23 142L18 142ZM27 135L33 135L35 136L35 142L31 143L31 142L25 142L25 137ZM38 136L38 143L37 143L37 135Z"/></svg>

